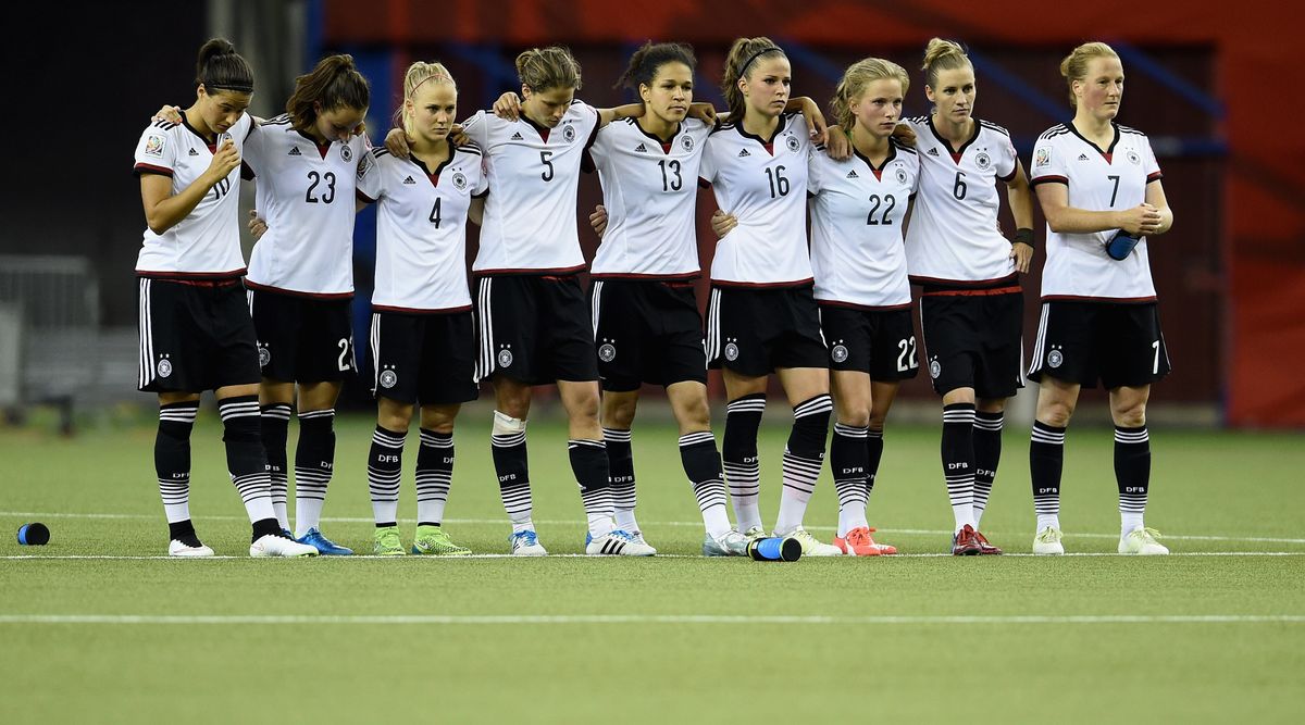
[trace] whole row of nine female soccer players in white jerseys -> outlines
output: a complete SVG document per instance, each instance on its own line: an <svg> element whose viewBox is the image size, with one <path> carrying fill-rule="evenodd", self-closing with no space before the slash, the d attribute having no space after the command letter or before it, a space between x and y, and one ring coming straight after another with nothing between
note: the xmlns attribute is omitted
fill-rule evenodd
<svg viewBox="0 0 1305 725"><path fill-rule="evenodd" d="M706 555L744 555L765 537L803 555L882 555L867 502L897 387L920 353L910 317L920 287L927 369L942 398L942 472L954 554L1000 554L979 524L1001 458L1005 402L1022 385L1019 275L1034 257L1034 196L1048 220L1043 310L1027 376L1039 383L1030 468L1034 552L1062 553L1065 428L1081 386L1109 390L1116 424L1120 553L1168 550L1143 524L1151 468L1150 385L1169 370L1147 237L1173 223L1144 134L1114 123L1124 69L1103 43L1061 64L1074 119L1037 141L1026 173L1001 126L974 117L964 50L925 50L932 112L902 119L910 77L881 59L852 64L831 102L793 99L791 67L767 38L735 42L728 113L693 103L696 59L645 44L620 85L641 103L594 108L560 47L521 53L519 95L455 124L457 85L415 63L386 147L361 123L365 78L329 56L296 80L287 113L245 108L253 74L210 40L196 102L154 121L136 150L149 229L137 259L141 390L159 396L154 459L174 555L211 555L189 515L189 439L200 391L215 390L228 471L253 525L252 555L347 554L320 531L334 466L334 404L354 369L348 308L356 209L377 205L368 339L377 426L368 454L373 552L403 554L397 527L403 443L414 413L418 527L411 552L458 555L441 527L462 403L491 381L491 450L512 554L543 555L531 520L526 421L531 386L556 385L568 413L589 554L651 555L634 515L630 429L642 383L666 387L702 512ZM602 244L589 266L576 203L596 170ZM257 183L258 241L239 245L241 173ZM718 211L706 321L694 203ZM1000 232L998 183L1015 232ZM809 215L809 240L808 240ZM467 222L480 226L465 269ZM910 222L910 224L907 224ZM718 450L706 370L728 398ZM757 432L775 374L793 409L774 527L760 510ZM295 531L287 428L298 408ZM829 436L834 417L833 439ZM833 544L803 527L826 450L839 499ZM727 503L728 502L728 503ZM728 516L732 506L735 523Z"/></svg>

